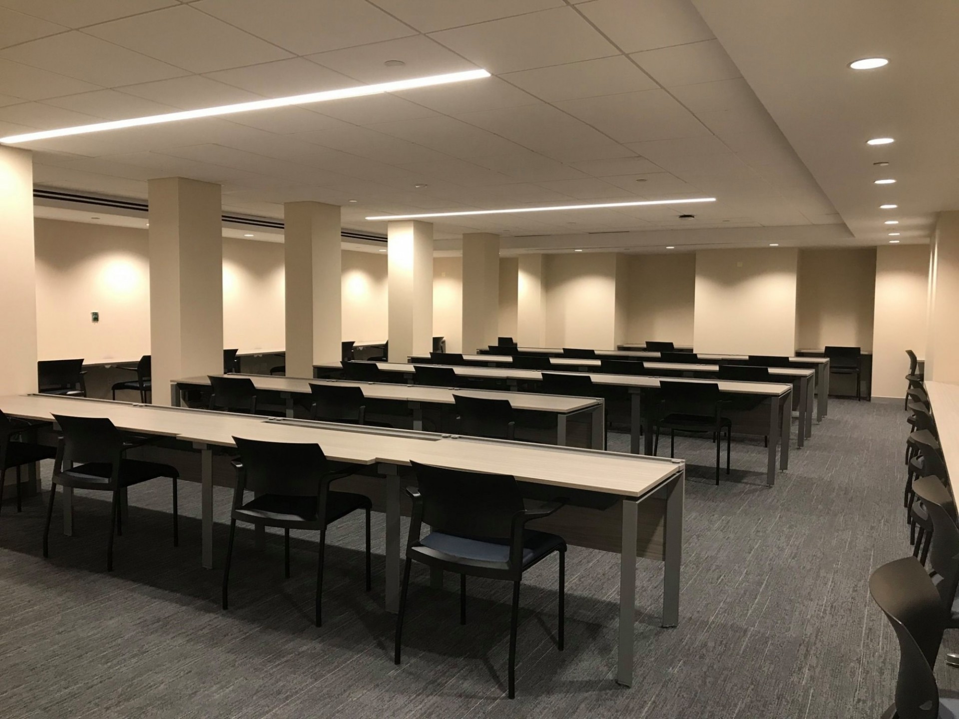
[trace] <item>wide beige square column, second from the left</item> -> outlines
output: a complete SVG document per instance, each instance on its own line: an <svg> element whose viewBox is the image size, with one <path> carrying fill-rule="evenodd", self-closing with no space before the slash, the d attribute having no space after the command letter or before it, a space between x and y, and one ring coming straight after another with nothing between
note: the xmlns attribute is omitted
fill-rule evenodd
<svg viewBox="0 0 959 719"><path fill-rule="evenodd" d="M223 239L220 185L152 179L150 343L153 404L172 380L223 371Z"/></svg>

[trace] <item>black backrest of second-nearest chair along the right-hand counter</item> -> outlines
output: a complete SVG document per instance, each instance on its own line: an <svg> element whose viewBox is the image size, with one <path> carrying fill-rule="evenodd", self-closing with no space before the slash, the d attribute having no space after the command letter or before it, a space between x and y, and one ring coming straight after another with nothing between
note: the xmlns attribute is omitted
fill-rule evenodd
<svg viewBox="0 0 959 719"><path fill-rule="evenodd" d="M952 611L959 585L959 527L956 526L955 500L938 476L922 476L912 483L916 497L922 500L932 520L932 544L929 566L932 583L943 608Z"/></svg>

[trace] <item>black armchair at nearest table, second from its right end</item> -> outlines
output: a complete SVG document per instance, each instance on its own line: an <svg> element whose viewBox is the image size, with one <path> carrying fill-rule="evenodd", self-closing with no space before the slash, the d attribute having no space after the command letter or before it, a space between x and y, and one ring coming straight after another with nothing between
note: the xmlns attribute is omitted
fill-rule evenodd
<svg viewBox="0 0 959 719"><path fill-rule="evenodd" d="M354 474L353 465L331 462L316 444L259 442L234 437L240 458L230 513L230 536L223 563L222 606L227 608L227 586L237 522L282 527L286 576L290 576L290 530L319 531L316 568L316 626L322 626L323 555L326 528L348 514L366 513L366 591L371 588L369 512L372 502L363 495L330 489L335 480ZM256 497L245 501L244 493Z"/></svg>

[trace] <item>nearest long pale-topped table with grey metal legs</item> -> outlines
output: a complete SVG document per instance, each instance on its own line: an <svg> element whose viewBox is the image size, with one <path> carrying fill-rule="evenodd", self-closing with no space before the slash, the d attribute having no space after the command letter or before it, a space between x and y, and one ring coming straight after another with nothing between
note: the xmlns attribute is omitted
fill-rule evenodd
<svg viewBox="0 0 959 719"><path fill-rule="evenodd" d="M202 558L207 568L213 567L214 449L235 448L234 436L316 443L330 459L366 465L379 475L375 489L383 503L377 505L374 499L374 506L386 511L389 612L396 612L400 593L400 468L416 461L513 475L527 487L551 497L569 498L566 506L547 520L536 521L536 526L562 533L570 545L620 552L620 684L628 686L633 681L638 556L664 563L662 624L671 627L679 621L686 480L686 466L681 460L54 395L0 397L0 409L15 417L37 420L52 421L54 414L106 417L119 429L160 436L199 452ZM161 452L164 448L149 449ZM225 473L227 483L232 483L233 476L232 472ZM597 509L597 499L608 506Z"/></svg>

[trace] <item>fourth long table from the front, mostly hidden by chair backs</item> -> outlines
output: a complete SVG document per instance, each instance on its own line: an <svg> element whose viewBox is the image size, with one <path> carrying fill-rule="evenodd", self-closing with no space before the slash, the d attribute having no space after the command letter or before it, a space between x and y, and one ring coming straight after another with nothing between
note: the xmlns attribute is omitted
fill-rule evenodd
<svg viewBox="0 0 959 719"><path fill-rule="evenodd" d="M489 367L503 367L512 365L513 358L508 355L463 355L463 361L468 363L483 363ZM550 365L557 367L557 371L576 367L586 372L591 367L601 367L600 359L576 359L566 357L550 357ZM408 359L411 363L431 363L429 355L411 355ZM711 379L711 376L719 372L718 364L708 362L655 362L638 360L636 362L644 369L663 370L674 372L687 372L692 376L700 376L702 379ZM814 369L803 369L796 367L769 367L769 374L774 381L789 382L795 384L796 389L796 407L799 410L799 426L802 430L798 433L796 446L804 447L806 439L812 436L812 398L815 394L816 371Z"/></svg>

